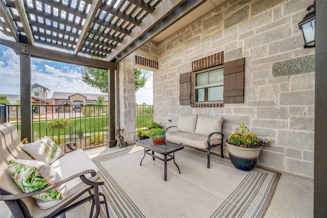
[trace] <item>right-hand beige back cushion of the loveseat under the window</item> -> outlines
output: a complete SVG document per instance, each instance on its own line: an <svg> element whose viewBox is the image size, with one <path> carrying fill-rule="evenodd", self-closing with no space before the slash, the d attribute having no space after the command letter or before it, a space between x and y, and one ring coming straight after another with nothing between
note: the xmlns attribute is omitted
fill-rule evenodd
<svg viewBox="0 0 327 218"><path fill-rule="evenodd" d="M211 133L221 133L224 118L198 116L196 122L195 134L208 136Z"/></svg>

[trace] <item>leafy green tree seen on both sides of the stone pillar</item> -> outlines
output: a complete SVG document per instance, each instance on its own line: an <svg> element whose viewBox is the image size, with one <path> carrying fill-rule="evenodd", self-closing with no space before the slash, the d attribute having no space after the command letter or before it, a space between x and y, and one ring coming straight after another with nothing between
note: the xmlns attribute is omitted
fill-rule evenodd
<svg viewBox="0 0 327 218"><path fill-rule="evenodd" d="M96 59L100 59L97 57ZM150 79L149 71L134 68L135 73L135 92L143 88ZM102 93L108 93L108 71L96 68L82 68L82 81L86 84L98 88Z"/></svg>

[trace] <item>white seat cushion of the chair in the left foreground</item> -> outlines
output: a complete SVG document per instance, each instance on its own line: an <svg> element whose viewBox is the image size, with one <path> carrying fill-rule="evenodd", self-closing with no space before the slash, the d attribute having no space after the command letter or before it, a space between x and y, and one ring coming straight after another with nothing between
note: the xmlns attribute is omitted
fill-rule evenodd
<svg viewBox="0 0 327 218"><path fill-rule="evenodd" d="M85 175L87 179L95 181L99 178L98 167L89 159L89 157L82 149L68 152L67 154L50 164L50 166L52 166L52 168L54 168L58 172L59 176L62 179L66 179L75 175L76 173L87 169L94 169L97 172L97 175L95 177L91 177L90 173L87 173ZM79 177L66 182L65 185L67 187L68 196L71 196L72 194L86 186L86 184ZM48 209L55 206L56 204L59 204L61 201L50 202L37 200L36 202L41 209Z"/></svg>

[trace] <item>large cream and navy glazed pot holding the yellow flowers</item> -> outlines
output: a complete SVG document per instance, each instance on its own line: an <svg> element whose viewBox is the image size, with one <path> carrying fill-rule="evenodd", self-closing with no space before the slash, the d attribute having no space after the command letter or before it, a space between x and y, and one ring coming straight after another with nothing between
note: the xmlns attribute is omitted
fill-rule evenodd
<svg viewBox="0 0 327 218"><path fill-rule="evenodd" d="M240 147L227 142L229 159L240 170L250 171L256 166L262 145L259 147Z"/></svg>

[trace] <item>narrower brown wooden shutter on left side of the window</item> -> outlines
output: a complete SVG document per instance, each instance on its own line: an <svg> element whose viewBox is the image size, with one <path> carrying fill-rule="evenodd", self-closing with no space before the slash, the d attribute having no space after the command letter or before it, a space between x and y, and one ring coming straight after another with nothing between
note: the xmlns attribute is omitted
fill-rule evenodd
<svg viewBox="0 0 327 218"><path fill-rule="evenodd" d="M179 75L179 104L191 104L191 74L183 73Z"/></svg>

